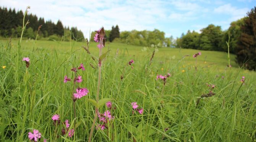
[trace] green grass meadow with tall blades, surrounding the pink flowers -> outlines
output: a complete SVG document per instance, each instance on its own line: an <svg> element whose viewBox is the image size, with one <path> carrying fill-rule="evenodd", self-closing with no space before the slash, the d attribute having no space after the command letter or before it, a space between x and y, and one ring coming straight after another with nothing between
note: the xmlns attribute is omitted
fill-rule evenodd
<svg viewBox="0 0 256 142"><path fill-rule="evenodd" d="M28 141L33 129L42 134L40 141L87 141L95 112L88 99L96 99L98 69L81 47L86 43L23 40L21 47L17 43L17 39L0 40L0 65L6 66L0 68L1 141ZM89 50L98 57L96 45L90 43ZM107 49L111 51L102 65L99 98L112 99L114 118L107 129L94 129L92 141L256 141L256 73L239 68L235 55L228 68L224 52L201 51L196 59L192 55L199 50L159 48L149 66L152 48L142 51L139 46L106 43L103 52ZM30 58L29 68L23 57ZM131 59L133 68L127 66ZM88 88L89 94L76 100L75 118L73 82L63 79L73 78L70 69L80 63L85 71L78 71L83 78L79 87ZM171 77L165 85L156 80L158 74L167 73ZM215 95L201 98L197 106L198 98L210 90ZM133 114L132 102L144 109L142 115ZM99 112L107 109L104 105ZM62 123L53 125L55 114L61 122L69 120L70 128L76 121L73 137L62 135Z"/></svg>

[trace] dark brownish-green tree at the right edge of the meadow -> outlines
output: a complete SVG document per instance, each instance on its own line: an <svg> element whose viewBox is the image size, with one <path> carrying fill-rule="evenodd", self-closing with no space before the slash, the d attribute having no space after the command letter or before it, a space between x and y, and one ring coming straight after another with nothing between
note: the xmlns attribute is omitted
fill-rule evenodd
<svg viewBox="0 0 256 142"><path fill-rule="evenodd" d="M256 7L251 9L241 26L241 36L237 43L237 62L240 66L256 70ZM247 62L246 62L247 61Z"/></svg>

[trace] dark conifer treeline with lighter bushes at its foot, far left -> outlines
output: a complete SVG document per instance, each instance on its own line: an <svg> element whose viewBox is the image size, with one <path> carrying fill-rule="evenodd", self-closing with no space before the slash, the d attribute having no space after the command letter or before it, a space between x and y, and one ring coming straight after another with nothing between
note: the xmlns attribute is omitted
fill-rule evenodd
<svg viewBox="0 0 256 142"><path fill-rule="evenodd" d="M22 26L23 26L23 11L16 11L15 9L7 9L0 7L0 36L3 37L20 37ZM25 17L25 23L29 21L29 24L26 26L23 37L35 39L36 33L40 25L42 25L39 30L39 39L52 39L52 40L61 40L66 41L71 39L77 41L83 41L84 35L81 30L78 30L76 27L63 27L63 24L60 20L55 24L52 21L45 21L42 17L37 17L34 14L28 14Z"/></svg>

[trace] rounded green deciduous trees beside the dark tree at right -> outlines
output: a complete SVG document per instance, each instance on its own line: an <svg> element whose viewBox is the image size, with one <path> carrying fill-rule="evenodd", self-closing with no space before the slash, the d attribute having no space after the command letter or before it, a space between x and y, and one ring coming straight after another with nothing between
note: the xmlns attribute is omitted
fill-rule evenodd
<svg viewBox="0 0 256 142"><path fill-rule="evenodd" d="M227 51L228 38L230 38L230 52L235 53L237 42L241 35L241 26L244 24L244 18L232 22L228 30L222 31L220 26L213 24L200 30L201 33L190 31L186 35L182 34L177 38L177 47L199 49L199 50L215 50Z"/></svg>

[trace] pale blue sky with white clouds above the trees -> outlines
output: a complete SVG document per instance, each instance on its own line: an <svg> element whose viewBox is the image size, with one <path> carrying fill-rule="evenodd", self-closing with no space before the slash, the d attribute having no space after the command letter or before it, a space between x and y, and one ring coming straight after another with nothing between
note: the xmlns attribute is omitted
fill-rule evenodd
<svg viewBox="0 0 256 142"><path fill-rule="evenodd" d="M77 27L85 37L118 25L120 31L158 29L176 38L209 24L227 30L256 6L256 0L0 0L0 6L23 11L31 6L29 13Z"/></svg>

